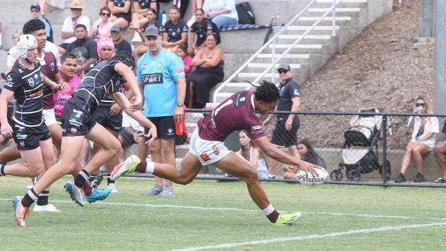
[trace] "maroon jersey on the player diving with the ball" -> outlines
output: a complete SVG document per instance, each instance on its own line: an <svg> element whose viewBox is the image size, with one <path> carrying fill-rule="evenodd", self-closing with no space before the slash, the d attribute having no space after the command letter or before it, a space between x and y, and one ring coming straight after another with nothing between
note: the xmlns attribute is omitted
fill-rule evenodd
<svg viewBox="0 0 446 251"><path fill-rule="evenodd" d="M222 101L210 115L198 121L198 134L207 141L224 141L235 130L246 130L252 139L263 134L254 113L253 91L239 91Z"/></svg>

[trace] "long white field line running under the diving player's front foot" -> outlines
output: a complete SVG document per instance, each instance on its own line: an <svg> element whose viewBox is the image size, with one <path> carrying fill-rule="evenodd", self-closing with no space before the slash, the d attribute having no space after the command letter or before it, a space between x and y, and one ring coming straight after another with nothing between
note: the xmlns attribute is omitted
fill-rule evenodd
<svg viewBox="0 0 446 251"><path fill-rule="evenodd" d="M1 201L10 202L11 199L0 199ZM50 202L58 203L74 203L71 200L51 200ZM146 204L146 203L114 203L114 202L95 202L95 204L104 204L110 206L145 206L152 208L180 208L180 209L196 209L204 211L239 211L239 212L259 212L257 209L242 209L242 208L220 208L220 207L205 207L205 206L177 206L167 204ZM282 211L283 213L295 213ZM399 215L371 215L371 214L354 214L354 213L330 213L330 212L302 212L306 215L330 215L330 216L351 216L351 217L363 217L363 218L389 218L389 219L430 219L436 221L446 221L446 218L441 217L412 217L412 216L399 216Z"/></svg>

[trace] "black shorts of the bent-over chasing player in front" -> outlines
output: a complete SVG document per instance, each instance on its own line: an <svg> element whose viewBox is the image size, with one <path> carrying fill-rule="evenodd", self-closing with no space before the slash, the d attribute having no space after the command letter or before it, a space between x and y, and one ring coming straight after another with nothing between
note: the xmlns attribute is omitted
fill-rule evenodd
<svg viewBox="0 0 446 251"><path fill-rule="evenodd" d="M62 136L84 136L95 125L90 115L68 102L62 110Z"/></svg>

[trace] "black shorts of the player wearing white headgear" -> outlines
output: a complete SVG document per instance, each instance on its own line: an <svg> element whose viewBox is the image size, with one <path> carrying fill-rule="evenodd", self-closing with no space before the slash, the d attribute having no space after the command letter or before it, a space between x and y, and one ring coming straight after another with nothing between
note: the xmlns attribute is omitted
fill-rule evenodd
<svg viewBox="0 0 446 251"><path fill-rule="evenodd" d="M19 151L33 150L40 147L39 141L47 141L51 139L51 134L45 123L36 127L25 127L13 122L14 133L12 137Z"/></svg>

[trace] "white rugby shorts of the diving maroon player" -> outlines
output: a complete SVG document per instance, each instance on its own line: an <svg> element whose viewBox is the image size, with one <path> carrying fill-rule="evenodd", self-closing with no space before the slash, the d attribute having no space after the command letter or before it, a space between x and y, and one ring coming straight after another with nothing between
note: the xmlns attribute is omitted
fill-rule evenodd
<svg viewBox="0 0 446 251"><path fill-rule="evenodd" d="M197 156L201 165L211 165L228 155L231 151L222 141L207 141L201 139L198 128L193 130L189 152Z"/></svg>

